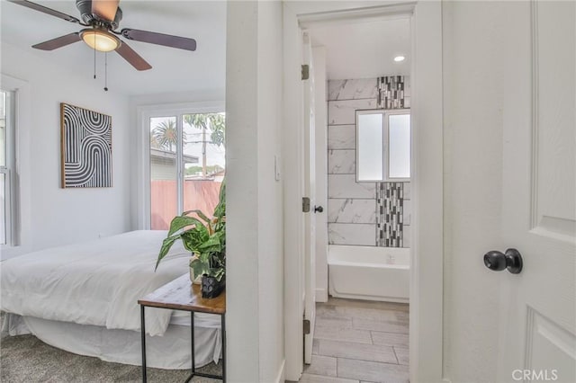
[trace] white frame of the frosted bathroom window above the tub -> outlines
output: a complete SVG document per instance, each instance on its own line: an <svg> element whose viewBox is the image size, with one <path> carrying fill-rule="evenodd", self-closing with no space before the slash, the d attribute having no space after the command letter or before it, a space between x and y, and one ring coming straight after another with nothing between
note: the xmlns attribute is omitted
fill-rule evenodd
<svg viewBox="0 0 576 383"><path fill-rule="evenodd" d="M383 117L383 153L382 153L382 161L383 161L383 179L378 180L360 180L358 178L359 171L358 168L360 163L359 159L359 152L360 147L358 145L358 117L361 115L366 114L380 114ZM410 177L390 177L390 126L389 126L389 118L392 115L410 115ZM355 119L355 135L356 135L356 183L406 183L410 182L411 180L411 162L412 162L412 118L411 118L411 111L410 108L407 109L363 109L363 110L356 110L356 119Z"/></svg>

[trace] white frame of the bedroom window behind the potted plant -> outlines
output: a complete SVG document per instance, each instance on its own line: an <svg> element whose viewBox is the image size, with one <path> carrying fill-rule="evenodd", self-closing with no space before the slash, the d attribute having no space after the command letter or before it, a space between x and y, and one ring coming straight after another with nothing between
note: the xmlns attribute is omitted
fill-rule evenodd
<svg viewBox="0 0 576 383"><path fill-rule="evenodd" d="M176 117L176 129L178 142L182 142L182 129L184 114L198 113L220 113L225 112L224 102L184 102L137 106L138 115L138 138L137 160L139 161L138 180L138 209L136 211L137 227L140 229L150 229L151 219L151 196L150 196L150 127L149 120L156 117ZM176 157L181 158L183 153L182 145L176 145ZM176 161L177 181L177 205L178 209L184 206L184 196L180 183L184 182L184 165L182 161ZM181 211L180 211L181 212ZM179 213L180 213L179 212Z"/></svg>

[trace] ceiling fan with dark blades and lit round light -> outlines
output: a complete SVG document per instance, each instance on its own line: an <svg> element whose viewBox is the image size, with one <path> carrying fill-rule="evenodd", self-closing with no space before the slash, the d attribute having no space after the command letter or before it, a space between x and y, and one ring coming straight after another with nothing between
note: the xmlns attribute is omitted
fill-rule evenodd
<svg viewBox="0 0 576 383"><path fill-rule="evenodd" d="M120 40L116 35L127 40L148 42L150 44L164 45L166 47L196 50L196 40L173 36L153 31L140 31L124 28L117 31L122 19L122 11L118 4L120 0L76 0L76 8L80 11L82 21L74 16L61 13L44 5L32 3L26 0L8 0L11 3L19 4L31 8L41 13L48 13L67 22L74 22L86 28L73 32L56 39L40 42L32 48L42 50L53 50L65 47L73 42L84 40L92 49L102 52L115 50L128 61L132 67L138 70L148 70L152 66L131 49L126 42Z"/></svg>

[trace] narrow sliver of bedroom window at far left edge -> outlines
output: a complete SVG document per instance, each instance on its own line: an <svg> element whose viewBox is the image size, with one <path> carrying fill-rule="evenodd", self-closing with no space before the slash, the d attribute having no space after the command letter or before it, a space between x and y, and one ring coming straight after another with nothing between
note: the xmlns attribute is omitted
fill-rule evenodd
<svg viewBox="0 0 576 383"><path fill-rule="evenodd" d="M13 245L14 92L0 91L0 245Z"/></svg>

